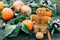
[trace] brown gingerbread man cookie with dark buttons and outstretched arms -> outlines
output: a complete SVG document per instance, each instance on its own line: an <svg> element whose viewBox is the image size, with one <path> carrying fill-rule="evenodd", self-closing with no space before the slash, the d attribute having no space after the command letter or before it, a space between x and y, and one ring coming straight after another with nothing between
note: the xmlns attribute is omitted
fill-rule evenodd
<svg viewBox="0 0 60 40"><path fill-rule="evenodd" d="M30 19L33 21L35 33L37 32L41 32L43 34L48 33L48 36L50 36L46 26L47 23L52 21L52 19L51 17L46 16L45 12L46 12L46 8L38 8L36 10L36 15L31 15ZM49 38L50 37L48 37L48 39Z"/></svg>

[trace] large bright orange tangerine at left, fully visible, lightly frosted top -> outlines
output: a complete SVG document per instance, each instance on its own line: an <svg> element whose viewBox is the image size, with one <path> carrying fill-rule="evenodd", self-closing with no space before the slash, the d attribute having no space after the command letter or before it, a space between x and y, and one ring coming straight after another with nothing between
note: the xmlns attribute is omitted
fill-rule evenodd
<svg viewBox="0 0 60 40"><path fill-rule="evenodd" d="M14 16L14 13L10 8L4 8L2 10L2 18L4 20L9 20L9 19L13 18L13 16Z"/></svg>

